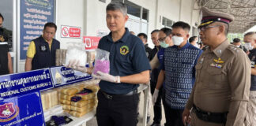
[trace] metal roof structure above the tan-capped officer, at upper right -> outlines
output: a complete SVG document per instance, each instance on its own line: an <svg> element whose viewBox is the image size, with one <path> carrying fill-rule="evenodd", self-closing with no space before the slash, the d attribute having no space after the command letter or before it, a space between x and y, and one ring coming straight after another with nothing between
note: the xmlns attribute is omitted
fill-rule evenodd
<svg viewBox="0 0 256 126"><path fill-rule="evenodd" d="M198 6L230 13L235 20L229 25L230 33L243 33L256 25L256 0L194 0Z"/></svg>

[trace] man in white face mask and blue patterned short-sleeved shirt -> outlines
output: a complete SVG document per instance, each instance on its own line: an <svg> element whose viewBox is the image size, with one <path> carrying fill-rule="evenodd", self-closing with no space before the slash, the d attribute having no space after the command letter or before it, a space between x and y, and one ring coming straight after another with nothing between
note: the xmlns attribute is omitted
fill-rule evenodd
<svg viewBox="0 0 256 126"><path fill-rule="evenodd" d="M171 39L175 46L164 50L164 60L152 98L157 98L163 83L166 126L183 126L183 109L190 96L195 80L195 68L202 50L187 42L190 25L179 21L172 25ZM155 101L152 99L152 101Z"/></svg>

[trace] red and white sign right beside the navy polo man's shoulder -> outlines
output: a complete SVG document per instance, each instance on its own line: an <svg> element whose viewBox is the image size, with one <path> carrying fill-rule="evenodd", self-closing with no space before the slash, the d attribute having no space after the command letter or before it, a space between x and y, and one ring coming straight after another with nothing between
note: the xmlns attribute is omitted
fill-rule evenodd
<svg viewBox="0 0 256 126"><path fill-rule="evenodd" d="M85 50L95 50L98 48L101 37L84 36L83 43L85 43Z"/></svg>

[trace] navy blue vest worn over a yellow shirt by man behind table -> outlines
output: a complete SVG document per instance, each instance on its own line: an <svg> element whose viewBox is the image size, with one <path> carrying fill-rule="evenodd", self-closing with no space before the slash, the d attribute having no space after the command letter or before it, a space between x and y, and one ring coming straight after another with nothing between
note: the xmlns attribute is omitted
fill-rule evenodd
<svg viewBox="0 0 256 126"><path fill-rule="evenodd" d="M32 70L55 66L55 52L59 49L58 40L52 40L51 50L49 44L42 36L32 41L34 41L36 46L36 54L32 59Z"/></svg>

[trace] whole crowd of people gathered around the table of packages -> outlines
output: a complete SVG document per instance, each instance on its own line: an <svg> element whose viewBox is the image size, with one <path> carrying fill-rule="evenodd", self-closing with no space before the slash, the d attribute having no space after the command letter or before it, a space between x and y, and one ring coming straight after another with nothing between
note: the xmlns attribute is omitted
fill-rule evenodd
<svg viewBox="0 0 256 126"><path fill-rule="evenodd" d="M96 76L100 79L96 108L99 126L137 125L139 83L150 89L147 122L154 113L152 126L160 126L162 103L166 126L256 125L256 33L245 34L245 44L238 38L231 44L227 35L234 17L205 7L201 13L200 37L190 36L190 25L178 21L171 28L151 32L152 49L148 35L134 35L125 28L129 17L122 2L107 5L111 32L100 39L98 49L110 52L110 72L97 72ZM0 14L0 31L3 19ZM43 35L32 40L26 71L55 66L55 50L60 45L53 39L56 30L54 23L47 23ZM6 61L1 62L0 72L12 73L8 50L1 51ZM66 67L92 73L93 68L76 62L70 61Z"/></svg>

